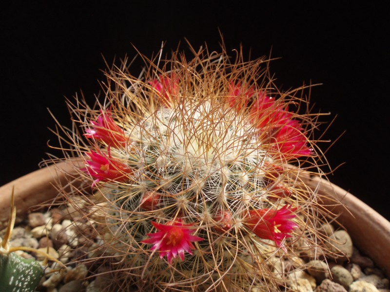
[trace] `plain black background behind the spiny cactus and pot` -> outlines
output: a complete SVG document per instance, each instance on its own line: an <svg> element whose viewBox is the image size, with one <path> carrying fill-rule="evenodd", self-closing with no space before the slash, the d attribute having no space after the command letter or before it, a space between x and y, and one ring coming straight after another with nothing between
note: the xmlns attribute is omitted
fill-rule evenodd
<svg viewBox="0 0 390 292"><path fill-rule="evenodd" d="M10 1L11 2L11 1ZM55 1L52 1L55 2ZM92 4L93 3L93 4ZM158 3L158 4L157 4ZM254 5L256 3L256 5ZM49 108L70 125L65 98L82 91L92 102L108 64L137 49L147 56L161 42L166 51L198 48L207 42L219 51L242 43L252 58L281 57L271 63L282 90L307 83L315 110L337 115L325 137L333 183L390 219L389 195L389 15L380 6L224 2L91 1L89 4L8 3L1 9L0 184L38 168L53 152L47 127ZM118 64L118 62L117 62ZM142 62L132 66L140 73ZM53 143L54 144L54 143ZM326 145L324 145L326 147Z"/></svg>

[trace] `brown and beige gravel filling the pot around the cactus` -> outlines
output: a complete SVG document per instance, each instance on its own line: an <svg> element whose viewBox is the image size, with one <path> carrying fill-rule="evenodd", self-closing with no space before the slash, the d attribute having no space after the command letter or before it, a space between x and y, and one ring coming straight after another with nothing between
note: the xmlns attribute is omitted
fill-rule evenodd
<svg viewBox="0 0 390 292"><path fill-rule="evenodd" d="M85 257L99 240L94 226L87 222L77 223L81 233L76 232L66 212L53 209L45 213L31 213L25 225L14 228L11 246L28 246L59 258L66 269L59 269L58 263L49 261L45 276L41 279L39 292L100 292L104 284L98 277L88 278L89 267L85 264L72 264L75 258ZM374 266L372 260L362 255L352 245L351 237L344 230L334 231L333 226L322 226L324 233L331 238L330 250L341 250L344 255L327 259L312 259L308 256L291 256L277 262L278 273L291 271L287 277L286 291L296 292L390 292L389 279L384 272ZM4 231L1 231L0 236ZM340 244L344 242L345 244ZM80 249L79 245L83 245ZM75 249L78 247L78 249ZM39 254L17 252L20 256L44 258ZM306 261L305 261L306 259ZM303 269L306 266L307 269ZM279 271L280 270L280 271ZM282 271L283 270L283 271ZM283 290L282 290L283 291Z"/></svg>

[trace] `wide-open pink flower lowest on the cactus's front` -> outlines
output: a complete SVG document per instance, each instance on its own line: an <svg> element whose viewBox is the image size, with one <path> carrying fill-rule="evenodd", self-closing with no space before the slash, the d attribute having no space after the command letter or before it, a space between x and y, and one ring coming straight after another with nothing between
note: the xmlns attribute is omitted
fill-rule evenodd
<svg viewBox="0 0 390 292"><path fill-rule="evenodd" d="M152 221L153 226L159 232L148 233L148 239L142 240L142 243L153 244L151 250L158 250L160 258L167 256L168 262L172 263L172 257L180 256L184 260L184 252L192 255L191 249L195 249L191 241L200 241L203 238L191 235L195 230L191 224L183 225L181 219L176 222L170 222L166 225Z"/></svg>

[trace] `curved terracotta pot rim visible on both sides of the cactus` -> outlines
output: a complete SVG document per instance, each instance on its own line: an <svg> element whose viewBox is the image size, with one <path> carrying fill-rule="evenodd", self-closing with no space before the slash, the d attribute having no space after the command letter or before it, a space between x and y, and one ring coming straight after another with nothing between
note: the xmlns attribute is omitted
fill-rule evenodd
<svg viewBox="0 0 390 292"><path fill-rule="evenodd" d="M65 185L67 175L74 172L72 163L59 163L27 174L0 187L0 227L8 220L12 188L15 187L15 204L19 217L30 207L54 200L58 191L54 185ZM390 276L390 222L347 191L318 177L303 177L306 183L324 197L328 209L339 214L339 222L347 229L353 244L384 268ZM329 199L328 199L329 198ZM334 205L332 200L344 204Z"/></svg>

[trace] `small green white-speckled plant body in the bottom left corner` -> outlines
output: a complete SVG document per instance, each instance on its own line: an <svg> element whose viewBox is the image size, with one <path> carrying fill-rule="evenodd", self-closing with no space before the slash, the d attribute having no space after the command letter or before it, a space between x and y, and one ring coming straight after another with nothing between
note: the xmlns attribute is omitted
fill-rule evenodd
<svg viewBox="0 0 390 292"><path fill-rule="evenodd" d="M42 276L43 267L36 260L15 253L0 255L2 292L34 292Z"/></svg>

